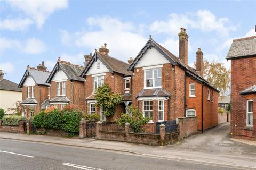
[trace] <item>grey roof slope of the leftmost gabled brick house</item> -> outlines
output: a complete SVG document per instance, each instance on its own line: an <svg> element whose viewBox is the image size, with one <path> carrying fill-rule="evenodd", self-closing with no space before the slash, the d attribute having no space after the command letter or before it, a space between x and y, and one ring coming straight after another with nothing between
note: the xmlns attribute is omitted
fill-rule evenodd
<svg viewBox="0 0 256 170"><path fill-rule="evenodd" d="M50 86L49 83L46 83L46 80L50 74L51 74L51 72L49 72L49 71L40 71L35 68L28 67L19 83L19 87L22 88L23 83L25 82L25 80L27 79L27 77L29 75L33 78L33 80L35 81L36 84Z"/></svg>

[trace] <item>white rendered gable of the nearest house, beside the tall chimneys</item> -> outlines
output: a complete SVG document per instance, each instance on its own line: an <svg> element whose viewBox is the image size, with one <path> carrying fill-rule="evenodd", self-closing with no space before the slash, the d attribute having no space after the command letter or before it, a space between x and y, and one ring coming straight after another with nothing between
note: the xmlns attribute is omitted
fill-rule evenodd
<svg viewBox="0 0 256 170"><path fill-rule="evenodd" d="M145 67L145 66L154 66L154 65L161 65L170 63L161 53L158 52L154 47L148 49L143 57L140 58L138 63L134 66L135 68L138 67Z"/></svg>

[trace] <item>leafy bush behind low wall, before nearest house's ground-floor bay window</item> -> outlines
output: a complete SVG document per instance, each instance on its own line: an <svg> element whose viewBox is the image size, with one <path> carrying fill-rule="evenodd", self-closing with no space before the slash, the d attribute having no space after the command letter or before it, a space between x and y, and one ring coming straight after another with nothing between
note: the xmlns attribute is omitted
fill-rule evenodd
<svg viewBox="0 0 256 170"><path fill-rule="evenodd" d="M130 123L131 130L135 133L142 133L142 126L148 123L150 117L143 117L143 112L139 111L138 108L129 106L128 112L132 113L132 116L126 113L121 113L121 117L116 119L116 122L124 126L126 122Z"/></svg>

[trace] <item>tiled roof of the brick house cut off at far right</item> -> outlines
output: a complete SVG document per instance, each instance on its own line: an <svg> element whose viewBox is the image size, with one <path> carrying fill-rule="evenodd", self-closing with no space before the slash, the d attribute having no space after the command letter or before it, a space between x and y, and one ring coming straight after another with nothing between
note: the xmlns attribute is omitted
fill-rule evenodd
<svg viewBox="0 0 256 170"><path fill-rule="evenodd" d="M256 55L256 36L234 39L226 59L251 55Z"/></svg>

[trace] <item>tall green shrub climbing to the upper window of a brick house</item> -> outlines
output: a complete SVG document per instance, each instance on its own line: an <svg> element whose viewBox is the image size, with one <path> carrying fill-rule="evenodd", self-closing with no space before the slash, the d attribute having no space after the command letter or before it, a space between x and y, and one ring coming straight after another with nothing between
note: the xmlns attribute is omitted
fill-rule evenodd
<svg viewBox="0 0 256 170"><path fill-rule="evenodd" d="M96 90L95 99L96 106L105 108L105 116L113 116L115 114L115 107L122 102L123 98L119 94L111 92L108 84L103 84Z"/></svg>

